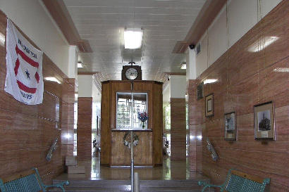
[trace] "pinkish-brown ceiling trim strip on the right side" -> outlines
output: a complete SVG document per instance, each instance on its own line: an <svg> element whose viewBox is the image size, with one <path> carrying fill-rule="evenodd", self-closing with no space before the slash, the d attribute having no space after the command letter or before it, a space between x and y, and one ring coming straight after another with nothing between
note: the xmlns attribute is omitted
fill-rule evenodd
<svg viewBox="0 0 289 192"><path fill-rule="evenodd" d="M190 27L189 32L187 32L185 39L176 43L173 53L184 53L188 45L196 45L226 2L227 0L207 0L201 11L199 11L199 15L197 15L192 27ZM184 45L187 45L185 49Z"/></svg>

